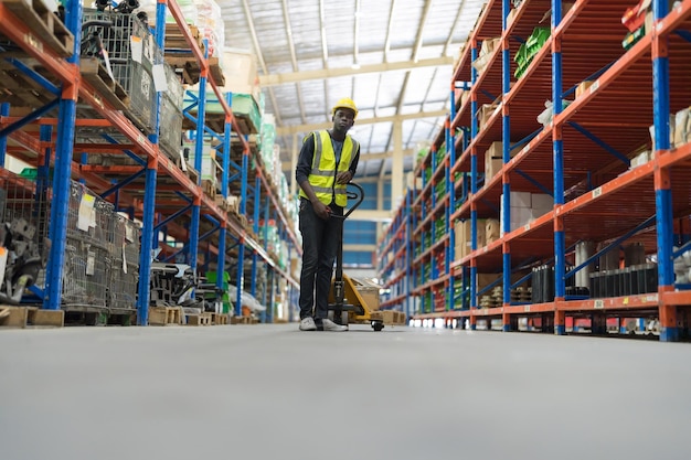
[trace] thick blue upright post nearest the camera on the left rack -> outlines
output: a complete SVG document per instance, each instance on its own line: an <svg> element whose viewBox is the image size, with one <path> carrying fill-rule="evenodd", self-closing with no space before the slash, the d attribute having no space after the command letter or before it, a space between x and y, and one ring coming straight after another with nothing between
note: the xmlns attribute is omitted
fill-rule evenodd
<svg viewBox="0 0 691 460"><path fill-rule="evenodd" d="M65 8L65 24L74 35L73 54L67 62L79 65L78 47L82 40L82 4L68 0ZM60 310L62 301L62 277L67 239L67 213L70 208L70 176L72 168L72 146L76 120L78 88L63 84L57 115L57 139L55 141L55 171L53 173L53 200L51 203L50 235L51 253L46 267L45 297L43 308Z"/></svg>

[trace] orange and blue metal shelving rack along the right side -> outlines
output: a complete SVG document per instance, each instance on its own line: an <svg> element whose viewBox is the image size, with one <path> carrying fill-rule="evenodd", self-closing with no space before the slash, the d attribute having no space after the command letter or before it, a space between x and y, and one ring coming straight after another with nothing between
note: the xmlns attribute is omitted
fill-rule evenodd
<svg viewBox="0 0 691 460"><path fill-rule="evenodd" d="M531 318L546 331L566 332L566 318L589 318L594 332L606 331L606 319L659 317L660 339L679 340L688 333L691 292L674 287L673 245L688 239L689 143L672 149L669 115L689 106L688 65L691 47L691 1L668 9L667 0L652 2L653 28L628 50L623 47L626 29L620 18L634 1L596 2L577 0L567 11L560 1L523 0L510 9L510 1L487 2L468 40L451 82L450 135L458 127L470 128L467 148L458 147L457 161L450 161L451 175L469 172L470 193L446 222L453 238L453 223L471 222L471 252L450 264L449 270L434 280L414 278L410 296L448 289L454 277L468 274L469 303L438 303L432 311L423 306L416 318L423 320L500 320L502 330L517 330L519 318ZM671 2L670 2L671 3ZM511 60L518 46L540 21L551 17L551 35L515 79ZM499 39L478 74L470 63L478 57L483 40ZM589 88L575 97L576 86L591 81ZM468 85L469 84L469 85ZM469 96L455 95L458 86L469 86ZM545 100L554 101L553 119L542 126L536 117ZM565 103L568 101L568 103ZM489 113L480 104L496 104ZM480 114L478 114L478 109ZM482 118L480 122L479 118ZM653 128L656 150L651 159L629 168L630 152L649 143ZM445 130L445 135L448 128ZM434 148L440 147L439 135ZM502 140L503 168L493 178L482 178L483 152ZM510 156L510 149L519 152ZM430 152L434 159L435 151ZM429 158L426 159L429 164ZM425 163L423 163L425 164ZM433 182L443 172L435 170ZM483 179L483 180L482 180ZM478 186L481 184L481 186ZM455 182L454 193L461 185ZM430 196L425 188L417 197ZM550 194L553 206L531 222L511 228L512 191ZM632 200L635 197L635 200ZM428 210L413 214L429 218ZM439 210L432 213L442 214ZM479 218L498 218L502 213L503 236L485 247L477 246ZM424 221L427 222L427 221ZM424 229L413 227L413 233ZM414 238L413 238L414 239ZM581 240L608 243L593 255L618 248L623 240L645 245L656 254L659 287L653 292L602 299L567 295L566 280L586 264L573 264L573 247ZM450 245L454 246L454 245ZM433 252L435 249L429 249ZM438 250L442 253L442 250ZM554 301L512 302L510 291L530 278L525 269L536 264L553 264ZM413 264L415 267L415 263ZM478 274L495 274L503 290L500 307L478 308L475 291ZM491 285L490 285L491 286Z"/></svg>

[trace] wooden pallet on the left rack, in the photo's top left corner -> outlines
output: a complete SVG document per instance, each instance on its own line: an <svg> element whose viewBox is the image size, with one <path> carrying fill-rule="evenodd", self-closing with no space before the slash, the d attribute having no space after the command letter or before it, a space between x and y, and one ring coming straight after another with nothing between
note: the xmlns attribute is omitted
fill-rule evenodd
<svg viewBox="0 0 691 460"><path fill-rule="evenodd" d="M71 56L74 51L74 35L62 23L57 14L50 11L41 0L2 0L4 8L12 11L38 40L28 40L39 51L43 43L60 57Z"/></svg>

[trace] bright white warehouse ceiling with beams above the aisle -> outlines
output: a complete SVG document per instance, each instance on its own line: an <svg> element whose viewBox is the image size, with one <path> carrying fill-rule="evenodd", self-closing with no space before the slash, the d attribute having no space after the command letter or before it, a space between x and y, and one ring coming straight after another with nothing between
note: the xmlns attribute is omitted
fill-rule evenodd
<svg viewBox="0 0 691 460"><path fill-rule="evenodd" d="M227 47L257 60L265 111L273 114L284 170L294 139L330 127L330 108L354 99L358 176L386 176L394 121L404 169L449 110L453 64L482 0L217 0ZM297 133L297 138L295 135ZM289 174L291 175L291 174Z"/></svg>

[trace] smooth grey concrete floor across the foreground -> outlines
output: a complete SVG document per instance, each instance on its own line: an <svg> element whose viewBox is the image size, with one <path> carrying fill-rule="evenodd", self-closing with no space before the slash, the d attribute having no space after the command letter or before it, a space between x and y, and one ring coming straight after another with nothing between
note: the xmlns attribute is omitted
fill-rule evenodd
<svg viewBox="0 0 691 460"><path fill-rule="evenodd" d="M0 459L688 459L691 345L289 325L0 331Z"/></svg>

